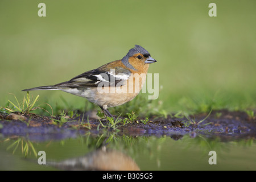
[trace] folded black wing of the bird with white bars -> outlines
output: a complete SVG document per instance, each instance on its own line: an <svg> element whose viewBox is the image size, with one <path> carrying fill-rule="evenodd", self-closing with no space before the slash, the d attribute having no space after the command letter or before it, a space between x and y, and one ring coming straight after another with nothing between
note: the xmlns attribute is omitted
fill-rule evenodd
<svg viewBox="0 0 256 182"><path fill-rule="evenodd" d="M102 71L101 69L93 69L72 78L69 81L56 84L61 88L89 88L101 86L122 86L125 80L130 77L131 72L122 67Z"/></svg>

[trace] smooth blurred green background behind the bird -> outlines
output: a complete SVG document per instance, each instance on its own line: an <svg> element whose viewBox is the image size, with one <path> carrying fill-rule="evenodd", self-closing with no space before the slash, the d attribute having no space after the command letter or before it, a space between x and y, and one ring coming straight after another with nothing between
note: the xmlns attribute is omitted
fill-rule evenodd
<svg viewBox="0 0 256 182"><path fill-rule="evenodd" d="M38 4L46 4L46 17ZM210 17L209 3L217 5ZM0 1L0 106L22 89L67 81L139 44L158 60L158 104L169 111L255 109L256 1ZM60 91L39 103L85 107ZM205 109L206 108L206 109Z"/></svg>

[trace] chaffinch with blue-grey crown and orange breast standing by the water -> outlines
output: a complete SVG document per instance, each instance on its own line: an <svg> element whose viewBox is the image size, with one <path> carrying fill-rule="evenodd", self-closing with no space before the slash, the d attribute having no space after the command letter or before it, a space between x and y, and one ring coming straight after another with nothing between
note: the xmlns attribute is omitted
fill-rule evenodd
<svg viewBox="0 0 256 182"><path fill-rule="evenodd" d="M146 49L135 45L122 60L112 61L60 84L22 91L62 90L87 98L100 106L106 116L113 117L108 107L133 100L146 81L148 64L155 62Z"/></svg>

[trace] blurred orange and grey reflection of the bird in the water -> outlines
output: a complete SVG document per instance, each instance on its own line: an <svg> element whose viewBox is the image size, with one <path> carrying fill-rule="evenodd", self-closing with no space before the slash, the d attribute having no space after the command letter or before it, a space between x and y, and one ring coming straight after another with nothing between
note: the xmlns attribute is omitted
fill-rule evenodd
<svg viewBox="0 0 256 182"><path fill-rule="evenodd" d="M120 151L107 150L102 147L79 158L61 162L47 162L49 166L61 170L98 170L98 171L139 171L138 165L130 156Z"/></svg>

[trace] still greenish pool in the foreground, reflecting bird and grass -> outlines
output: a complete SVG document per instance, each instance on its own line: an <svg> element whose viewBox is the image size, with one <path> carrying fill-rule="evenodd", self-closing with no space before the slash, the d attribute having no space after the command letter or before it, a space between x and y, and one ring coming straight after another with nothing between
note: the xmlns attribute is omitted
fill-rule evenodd
<svg viewBox="0 0 256 182"><path fill-rule="evenodd" d="M199 134L129 137L107 132L85 133L63 140L27 138L1 136L0 170L102 169L105 166L141 170L256 169L254 138L224 142L219 137L206 138ZM47 165L38 164L39 151L46 152ZM209 151L216 151L217 164L209 164Z"/></svg>

